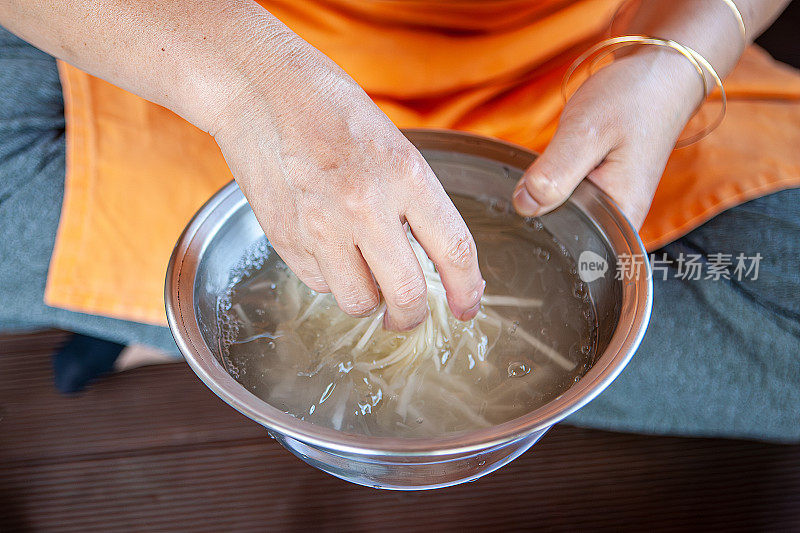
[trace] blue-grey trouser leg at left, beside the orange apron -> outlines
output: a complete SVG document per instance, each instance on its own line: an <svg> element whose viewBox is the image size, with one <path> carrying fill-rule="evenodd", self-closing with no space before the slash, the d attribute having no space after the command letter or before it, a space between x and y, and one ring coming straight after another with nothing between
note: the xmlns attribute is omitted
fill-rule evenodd
<svg viewBox="0 0 800 533"><path fill-rule="evenodd" d="M177 354L166 328L44 305L64 196L64 103L55 60L0 27L0 330L57 327Z"/></svg>

